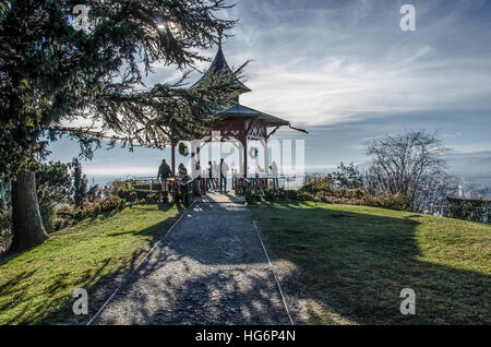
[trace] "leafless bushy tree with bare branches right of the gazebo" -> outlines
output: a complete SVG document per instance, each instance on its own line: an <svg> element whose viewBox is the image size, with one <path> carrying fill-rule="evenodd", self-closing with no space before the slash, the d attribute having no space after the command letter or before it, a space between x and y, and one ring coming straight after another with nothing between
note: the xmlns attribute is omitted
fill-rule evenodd
<svg viewBox="0 0 491 347"><path fill-rule="evenodd" d="M371 193L386 191L409 198L414 212L441 213L453 189L443 158L450 149L435 133L406 131L369 141L372 157L366 176Z"/></svg>

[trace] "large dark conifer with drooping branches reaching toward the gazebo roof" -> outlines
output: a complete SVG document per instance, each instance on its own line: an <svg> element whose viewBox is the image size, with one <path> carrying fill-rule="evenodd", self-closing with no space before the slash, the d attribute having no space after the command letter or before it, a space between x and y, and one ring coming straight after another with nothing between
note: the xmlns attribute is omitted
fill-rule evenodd
<svg viewBox="0 0 491 347"><path fill-rule="evenodd" d="M88 7L77 31L77 4ZM232 76L185 88L147 87L156 62L182 71L205 59L235 25L217 17L223 0L12 0L0 1L0 172L12 179L13 246L43 242L34 167L48 139L80 141L82 153L110 136L111 145L164 147L203 134L236 95ZM240 69L236 72L240 73ZM215 110L215 111L214 111ZM74 127L85 119L94 127Z"/></svg>

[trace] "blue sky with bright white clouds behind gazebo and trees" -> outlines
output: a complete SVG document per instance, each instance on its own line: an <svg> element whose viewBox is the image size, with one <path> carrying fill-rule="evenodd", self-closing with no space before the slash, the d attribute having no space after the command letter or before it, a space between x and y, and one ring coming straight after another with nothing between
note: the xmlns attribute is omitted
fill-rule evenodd
<svg viewBox="0 0 491 347"><path fill-rule="evenodd" d="M399 28L404 3L415 32ZM308 169L363 161L368 139L406 129L436 130L457 153L491 151L491 1L242 0L221 15L240 21L224 43L229 64L252 60L241 103L308 129L276 135L306 141ZM177 74L157 67L147 82ZM77 145L50 149L67 161ZM168 152L99 151L85 168L146 175Z"/></svg>

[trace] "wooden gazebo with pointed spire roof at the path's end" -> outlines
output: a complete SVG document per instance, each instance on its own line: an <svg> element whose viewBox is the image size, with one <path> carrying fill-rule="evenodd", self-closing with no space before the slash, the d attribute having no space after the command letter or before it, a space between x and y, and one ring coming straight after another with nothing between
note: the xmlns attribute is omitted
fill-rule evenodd
<svg viewBox="0 0 491 347"><path fill-rule="evenodd" d="M208 71L206 73L231 73L231 70L225 59L224 51L221 49L221 43L218 45L218 51L213 60ZM205 74L206 74L205 73ZM191 87L194 87L202 83L204 75ZM247 87L238 77L236 77L235 84L239 86L240 94L249 93L251 89ZM243 187L241 182L244 178L248 178L248 141L260 141L264 147L264 170L263 174L267 178L268 157L267 157L267 140L273 135L280 127L290 127L291 129L306 132L304 130L291 127L290 122L262 111L255 110L248 106L240 104L240 96L232 103L230 108L221 112L223 118L212 129L211 133L219 132L221 139L235 137L242 144L243 153L240 155L240 161L243 168L243 178L237 178L238 186ZM209 136L212 139L212 136ZM176 168L176 148L172 147L172 171ZM263 180L263 184L267 187L267 180Z"/></svg>

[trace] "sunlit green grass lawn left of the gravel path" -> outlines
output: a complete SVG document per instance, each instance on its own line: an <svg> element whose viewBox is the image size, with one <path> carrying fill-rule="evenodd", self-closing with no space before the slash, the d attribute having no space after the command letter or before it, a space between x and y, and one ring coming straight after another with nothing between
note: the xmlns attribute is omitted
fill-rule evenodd
<svg viewBox="0 0 491 347"><path fill-rule="evenodd" d="M143 259L177 214L169 205L127 207L0 258L0 324L73 323L73 290L87 289L91 302L91 294Z"/></svg>

